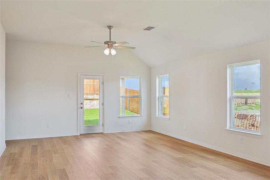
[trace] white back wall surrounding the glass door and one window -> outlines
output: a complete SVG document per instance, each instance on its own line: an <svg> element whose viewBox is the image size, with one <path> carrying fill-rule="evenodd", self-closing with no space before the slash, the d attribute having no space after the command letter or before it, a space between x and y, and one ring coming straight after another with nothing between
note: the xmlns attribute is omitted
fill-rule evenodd
<svg viewBox="0 0 270 180"><path fill-rule="evenodd" d="M77 133L78 72L105 73L106 131L150 128L150 67L129 50L112 61L103 50L7 41L6 139ZM118 118L120 76L142 77L143 117L131 124Z"/></svg>

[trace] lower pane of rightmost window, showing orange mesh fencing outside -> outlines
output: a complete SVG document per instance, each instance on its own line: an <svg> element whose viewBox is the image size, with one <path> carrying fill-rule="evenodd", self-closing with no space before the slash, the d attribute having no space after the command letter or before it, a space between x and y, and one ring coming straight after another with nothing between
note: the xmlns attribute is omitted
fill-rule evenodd
<svg viewBox="0 0 270 180"><path fill-rule="evenodd" d="M260 99L234 99L235 128L260 131Z"/></svg>

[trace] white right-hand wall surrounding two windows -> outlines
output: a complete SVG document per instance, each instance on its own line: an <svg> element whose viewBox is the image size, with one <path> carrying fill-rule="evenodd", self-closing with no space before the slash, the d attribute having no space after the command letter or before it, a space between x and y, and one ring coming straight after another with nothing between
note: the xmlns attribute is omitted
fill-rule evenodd
<svg viewBox="0 0 270 180"><path fill-rule="evenodd" d="M227 133L227 64L261 60L261 139ZM151 68L151 127L270 165L269 41ZM156 116L156 76L169 74L170 120ZM184 131L184 125L187 130ZM242 136L243 143L238 143ZM235 152L235 153L234 153ZM262 161L260 161L262 160Z"/></svg>

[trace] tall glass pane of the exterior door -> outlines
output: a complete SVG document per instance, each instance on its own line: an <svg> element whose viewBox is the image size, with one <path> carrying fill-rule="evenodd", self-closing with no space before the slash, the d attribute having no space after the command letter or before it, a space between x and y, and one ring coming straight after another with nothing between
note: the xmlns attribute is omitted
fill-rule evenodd
<svg viewBox="0 0 270 180"><path fill-rule="evenodd" d="M99 79L84 79L84 125L99 125Z"/></svg>

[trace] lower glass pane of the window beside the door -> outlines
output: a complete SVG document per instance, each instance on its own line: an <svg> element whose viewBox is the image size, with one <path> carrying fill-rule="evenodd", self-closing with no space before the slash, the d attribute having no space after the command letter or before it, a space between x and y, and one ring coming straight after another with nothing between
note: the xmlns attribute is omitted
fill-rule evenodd
<svg viewBox="0 0 270 180"><path fill-rule="evenodd" d="M125 110L122 108L125 107ZM120 98L120 115L140 114L140 98Z"/></svg>

